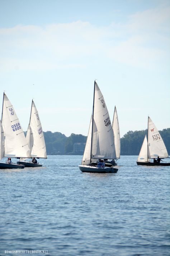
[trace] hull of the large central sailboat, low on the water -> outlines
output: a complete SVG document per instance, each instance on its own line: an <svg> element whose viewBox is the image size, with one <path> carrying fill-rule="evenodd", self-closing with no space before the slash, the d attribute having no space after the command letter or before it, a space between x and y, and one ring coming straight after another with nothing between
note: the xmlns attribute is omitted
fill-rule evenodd
<svg viewBox="0 0 170 256"><path fill-rule="evenodd" d="M88 165L79 165L79 169L82 172L93 172L93 173L115 173L118 171L117 168L113 168L113 167L98 168L96 166L88 166Z"/></svg>

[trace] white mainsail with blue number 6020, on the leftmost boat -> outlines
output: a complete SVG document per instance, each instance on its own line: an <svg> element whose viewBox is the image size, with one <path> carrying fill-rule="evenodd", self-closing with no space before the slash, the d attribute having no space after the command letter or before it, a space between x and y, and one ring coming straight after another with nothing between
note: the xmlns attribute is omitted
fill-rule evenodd
<svg viewBox="0 0 170 256"><path fill-rule="evenodd" d="M6 94L3 99L2 126L6 157L30 157L30 151L18 117Z"/></svg>

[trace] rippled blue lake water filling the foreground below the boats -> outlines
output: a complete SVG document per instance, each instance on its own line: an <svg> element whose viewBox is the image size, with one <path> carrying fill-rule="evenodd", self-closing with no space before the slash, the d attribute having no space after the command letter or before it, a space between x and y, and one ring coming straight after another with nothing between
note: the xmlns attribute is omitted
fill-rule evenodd
<svg viewBox="0 0 170 256"><path fill-rule="evenodd" d="M89 174L81 158L0 170L0 255L170 255L170 167L121 156L117 173Z"/></svg>

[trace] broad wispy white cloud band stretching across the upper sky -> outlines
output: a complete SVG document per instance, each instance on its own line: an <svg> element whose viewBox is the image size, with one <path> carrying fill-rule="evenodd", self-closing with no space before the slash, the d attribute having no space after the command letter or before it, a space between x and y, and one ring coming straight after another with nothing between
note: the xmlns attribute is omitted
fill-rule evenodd
<svg viewBox="0 0 170 256"><path fill-rule="evenodd" d="M89 22L0 29L0 68L54 70L84 68L91 59L156 68L169 64L170 7L137 12L125 24L95 27Z"/></svg>

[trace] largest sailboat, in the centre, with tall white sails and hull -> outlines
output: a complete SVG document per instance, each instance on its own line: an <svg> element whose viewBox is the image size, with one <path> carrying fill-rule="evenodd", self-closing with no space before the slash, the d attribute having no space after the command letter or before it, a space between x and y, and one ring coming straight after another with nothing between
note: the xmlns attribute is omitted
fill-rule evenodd
<svg viewBox="0 0 170 256"><path fill-rule="evenodd" d="M117 172L113 167L97 167L97 159L115 159L114 134L109 113L96 81L94 82L93 113L81 165L82 172Z"/></svg>

